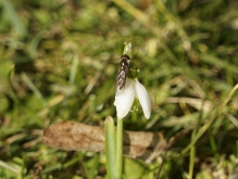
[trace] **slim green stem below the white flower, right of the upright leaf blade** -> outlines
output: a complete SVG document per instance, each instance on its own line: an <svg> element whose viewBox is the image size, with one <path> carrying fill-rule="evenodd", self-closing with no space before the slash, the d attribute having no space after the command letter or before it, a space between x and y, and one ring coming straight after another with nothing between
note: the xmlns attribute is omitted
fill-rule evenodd
<svg viewBox="0 0 238 179"><path fill-rule="evenodd" d="M117 119L116 132L116 179L121 179L123 170L123 119Z"/></svg>

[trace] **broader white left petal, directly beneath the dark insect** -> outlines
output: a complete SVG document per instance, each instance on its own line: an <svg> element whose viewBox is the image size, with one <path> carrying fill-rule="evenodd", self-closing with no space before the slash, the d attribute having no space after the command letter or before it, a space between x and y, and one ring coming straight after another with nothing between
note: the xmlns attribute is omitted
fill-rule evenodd
<svg viewBox="0 0 238 179"><path fill-rule="evenodd" d="M134 84L135 81L133 79L127 78L123 93L120 95L115 95L114 105L116 106L116 115L118 119L124 118L128 114L133 105L136 95Z"/></svg>

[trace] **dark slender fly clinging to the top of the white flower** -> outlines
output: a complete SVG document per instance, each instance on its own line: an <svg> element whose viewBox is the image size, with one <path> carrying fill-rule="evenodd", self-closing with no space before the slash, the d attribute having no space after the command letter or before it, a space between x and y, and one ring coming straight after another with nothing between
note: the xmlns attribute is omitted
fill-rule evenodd
<svg viewBox="0 0 238 179"><path fill-rule="evenodd" d="M122 94L126 86L126 76L129 73L129 62L130 59L127 54L123 54L121 56L121 62L116 76L116 95Z"/></svg>

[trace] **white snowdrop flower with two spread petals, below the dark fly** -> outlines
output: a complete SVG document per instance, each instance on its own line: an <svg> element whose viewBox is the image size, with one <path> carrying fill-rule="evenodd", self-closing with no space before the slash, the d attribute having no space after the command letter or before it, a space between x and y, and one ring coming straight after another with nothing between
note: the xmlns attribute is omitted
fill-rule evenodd
<svg viewBox="0 0 238 179"><path fill-rule="evenodd" d="M150 118L151 102L146 88L137 78L126 78L126 85L123 93L115 95L114 105L116 106L118 119L124 118L128 114L135 98L139 100L146 118Z"/></svg>

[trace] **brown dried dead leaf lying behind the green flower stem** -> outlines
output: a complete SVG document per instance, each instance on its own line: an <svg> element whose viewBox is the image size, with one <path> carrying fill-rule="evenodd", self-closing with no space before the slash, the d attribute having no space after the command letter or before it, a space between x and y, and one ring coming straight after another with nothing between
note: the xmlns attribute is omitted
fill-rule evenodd
<svg viewBox="0 0 238 179"><path fill-rule="evenodd" d="M66 151L104 152L104 129L65 120L51 125L43 131L43 142ZM151 163L168 143L162 132L124 131L124 155Z"/></svg>

